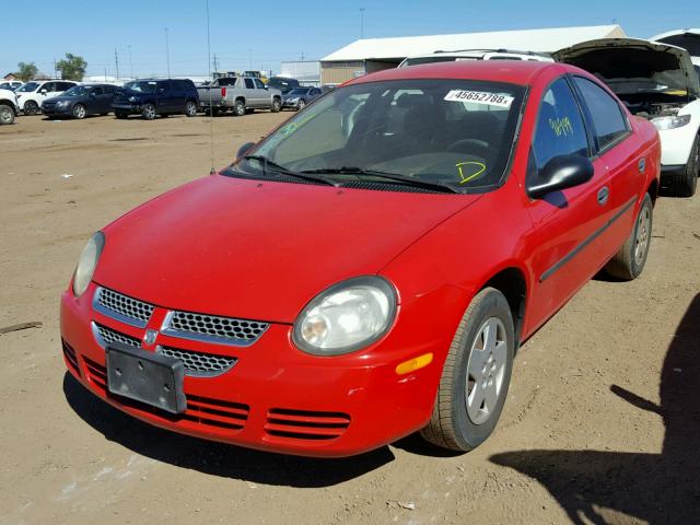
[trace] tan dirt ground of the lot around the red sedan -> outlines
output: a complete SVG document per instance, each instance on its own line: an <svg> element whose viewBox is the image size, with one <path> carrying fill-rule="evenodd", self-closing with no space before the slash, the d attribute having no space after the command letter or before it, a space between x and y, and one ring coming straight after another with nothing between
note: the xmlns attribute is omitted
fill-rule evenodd
<svg viewBox="0 0 700 525"><path fill-rule="evenodd" d="M289 114L214 119L214 165ZM588 283L516 358L495 433L305 459L150 428L65 371L89 235L209 172L210 120L0 128L0 524L700 523L700 196L661 198L646 269Z"/></svg>

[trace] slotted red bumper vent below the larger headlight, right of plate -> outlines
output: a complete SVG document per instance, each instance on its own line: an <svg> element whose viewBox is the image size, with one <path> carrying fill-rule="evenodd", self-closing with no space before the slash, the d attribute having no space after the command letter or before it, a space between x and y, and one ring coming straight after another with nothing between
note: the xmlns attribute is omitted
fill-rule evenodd
<svg viewBox="0 0 700 525"><path fill-rule="evenodd" d="M334 440L350 425L350 416L342 412L317 412L272 408L267 412L265 431L277 438L294 440Z"/></svg>

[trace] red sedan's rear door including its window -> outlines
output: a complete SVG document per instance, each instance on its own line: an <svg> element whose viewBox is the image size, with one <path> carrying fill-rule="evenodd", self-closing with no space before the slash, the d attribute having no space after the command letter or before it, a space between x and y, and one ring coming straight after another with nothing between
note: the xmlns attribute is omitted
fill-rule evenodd
<svg viewBox="0 0 700 525"><path fill-rule="evenodd" d="M572 80L591 122L596 152L610 172L609 199L614 213L607 253L611 257L631 231L634 205L646 179L648 160L640 154L639 141L619 102L590 79L574 75Z"/></svg>

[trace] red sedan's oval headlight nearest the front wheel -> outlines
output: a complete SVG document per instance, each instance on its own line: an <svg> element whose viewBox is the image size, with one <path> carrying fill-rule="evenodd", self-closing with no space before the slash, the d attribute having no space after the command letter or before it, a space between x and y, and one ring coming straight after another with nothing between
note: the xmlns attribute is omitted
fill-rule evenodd
<svg viewBox="0 0 700 525"><path fill-rule="evenodd" d="M380 277L335 284L311 301L294 323L293 340L315 355L348 353L380 339L396 314L396 292Z"/></svg>

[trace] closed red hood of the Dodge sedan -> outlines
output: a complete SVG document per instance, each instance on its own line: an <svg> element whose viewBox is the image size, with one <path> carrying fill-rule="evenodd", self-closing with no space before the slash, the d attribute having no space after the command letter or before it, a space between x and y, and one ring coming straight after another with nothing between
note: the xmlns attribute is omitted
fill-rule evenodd
<svg viewBox="0 0 700 525"><path fill-rule="evenodd" d="M108 225L94 281L168 308L292 323L479 197L213 175Z"/></svg>

